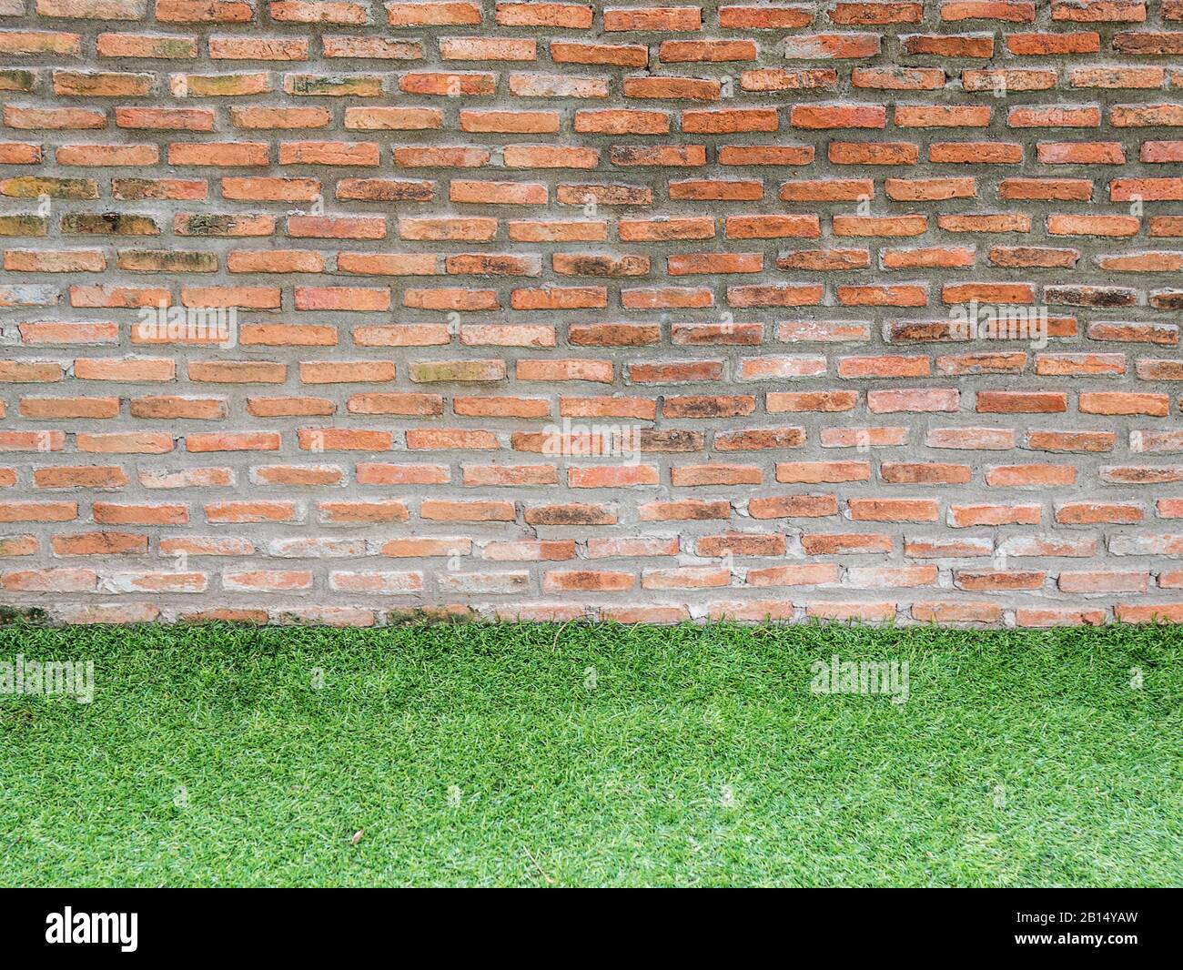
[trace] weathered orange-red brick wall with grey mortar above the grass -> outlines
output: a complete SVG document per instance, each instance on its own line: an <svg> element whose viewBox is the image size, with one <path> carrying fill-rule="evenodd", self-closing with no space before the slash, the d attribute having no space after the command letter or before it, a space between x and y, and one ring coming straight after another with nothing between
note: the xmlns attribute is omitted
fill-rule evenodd
<svg viewBox="0 0 1183 970"><path fill-rule="evenodd" d="M1183 620L1183 0L0 0L0 600Z"/></svg>

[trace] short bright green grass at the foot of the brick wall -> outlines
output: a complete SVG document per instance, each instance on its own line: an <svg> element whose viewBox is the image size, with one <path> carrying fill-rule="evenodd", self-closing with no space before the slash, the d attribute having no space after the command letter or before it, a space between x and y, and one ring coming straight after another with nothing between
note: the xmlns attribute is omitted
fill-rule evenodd
<svg viewBox="0 0 1183 970"><path fill-rule="evenodd" d="M1183 884L1178 627L0 628L17 653L93 659L96 697L0 696L4 885ZM907 660L911 699L812 693L834 653Z"/></svg>

